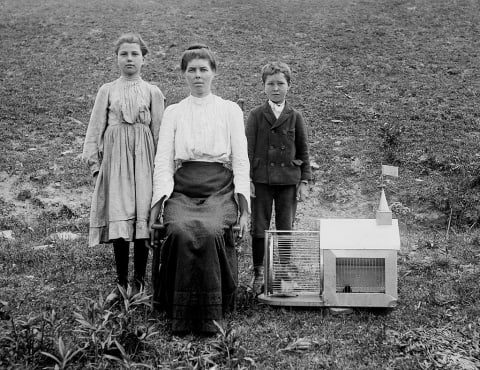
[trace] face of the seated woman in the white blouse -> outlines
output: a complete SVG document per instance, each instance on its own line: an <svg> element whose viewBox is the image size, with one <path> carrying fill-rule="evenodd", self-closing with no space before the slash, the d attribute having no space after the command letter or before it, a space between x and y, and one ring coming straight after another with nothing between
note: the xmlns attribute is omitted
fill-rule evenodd
<svg viewBox="0 0 480 370"><path fill-rule="evenodd" d="M192 59L184 72L190 93L202 98L210 94L215 72L207 59Z"/></svg>

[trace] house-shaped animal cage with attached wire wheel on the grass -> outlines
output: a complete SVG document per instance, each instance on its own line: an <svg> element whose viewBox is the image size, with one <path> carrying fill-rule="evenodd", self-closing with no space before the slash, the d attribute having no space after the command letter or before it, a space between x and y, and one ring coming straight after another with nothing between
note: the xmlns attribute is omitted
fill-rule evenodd
<svg viewBox="0 0 480 370"><path fill-rule="evenodd" d="M260 301L278 306L394 307L397 220L321 219L316 231L265 232Z"/></svg>

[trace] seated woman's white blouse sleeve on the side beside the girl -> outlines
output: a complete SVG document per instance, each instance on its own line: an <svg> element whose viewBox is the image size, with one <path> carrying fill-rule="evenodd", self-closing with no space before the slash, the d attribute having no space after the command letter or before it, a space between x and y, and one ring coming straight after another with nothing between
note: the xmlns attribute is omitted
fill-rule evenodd
<svg viewBox="0 0 480 370"><path fill-rule="evenodd" d="M165 196L169 198L173 191L173 173L175 169L175 111L168 107L163 115L158 135L155 167L153 170L152 207Z"/></svg>

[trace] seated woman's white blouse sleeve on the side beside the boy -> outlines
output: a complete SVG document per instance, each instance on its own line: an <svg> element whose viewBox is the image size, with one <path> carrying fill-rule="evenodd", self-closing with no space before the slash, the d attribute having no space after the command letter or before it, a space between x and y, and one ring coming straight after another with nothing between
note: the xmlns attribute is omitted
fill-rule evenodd
<svg viewBox="0 0 480 370"><path fill-rule="evenodd" d="M247 200L248 212L250 212L250 162L243 112L237 104L232 102L229 113L233 185L235 193L242 194Z"/></svg>

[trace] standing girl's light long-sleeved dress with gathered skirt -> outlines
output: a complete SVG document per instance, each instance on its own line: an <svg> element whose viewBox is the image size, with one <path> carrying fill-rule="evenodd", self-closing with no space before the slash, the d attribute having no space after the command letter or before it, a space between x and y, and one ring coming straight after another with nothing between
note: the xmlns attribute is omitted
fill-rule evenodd
<svg viewBox="0 0 480 370"><path fill-rule="evenodd" d="M141 78L119 79L98 91L83 158L98 172L89 245L149 238L152 177L164 97Z"/></svg>

